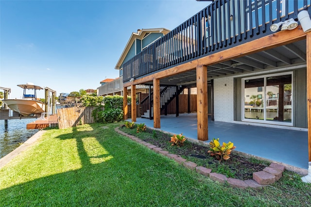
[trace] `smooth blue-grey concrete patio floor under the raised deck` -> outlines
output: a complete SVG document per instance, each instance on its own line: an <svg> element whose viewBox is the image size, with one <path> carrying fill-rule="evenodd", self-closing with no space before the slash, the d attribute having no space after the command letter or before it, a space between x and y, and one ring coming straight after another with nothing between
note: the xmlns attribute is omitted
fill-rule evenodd
<svg viewBox="0 0 311 207"><path fill-rule="evenodd" d="M128 119L127 121L131 121ZM145 123L153 128L153 120L137 118L136 123ZM197 114L182 113L161 115L160 130L183 133L187 138L197 140ZM217 121L208 121L208 141L219 138L220 142L233 142L235 150L263 159L287 165L287 169L307 173L308 131L271 127L250 126Z"/></svg>

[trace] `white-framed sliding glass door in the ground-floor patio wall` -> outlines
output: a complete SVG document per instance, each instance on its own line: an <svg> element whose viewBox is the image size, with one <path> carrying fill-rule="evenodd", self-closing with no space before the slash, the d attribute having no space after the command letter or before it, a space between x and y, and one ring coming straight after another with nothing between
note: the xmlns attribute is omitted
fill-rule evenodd
<svg viewBox="0 0 311 207"><path fill-rule="evenodd" d="M292 77L289 72L242 79L243 121L293 125Z"/></svg>

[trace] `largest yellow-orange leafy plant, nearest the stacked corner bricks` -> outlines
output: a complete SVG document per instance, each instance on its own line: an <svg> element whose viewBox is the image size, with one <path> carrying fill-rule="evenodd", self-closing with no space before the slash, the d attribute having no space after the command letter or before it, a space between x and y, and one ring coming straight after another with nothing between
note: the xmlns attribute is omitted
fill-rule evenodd
<svg viewBox="0 0 311 207"><path fill-rule="evenodd" d="M213 140L209 143L209 146L210 150L207 152L210 156L215 156L219 161L222 161L223 159L229 159L231 151L236 148L236 146L234 146L231 142L223 143L223 145L220 145L219 138L213 138Z"/></svg>

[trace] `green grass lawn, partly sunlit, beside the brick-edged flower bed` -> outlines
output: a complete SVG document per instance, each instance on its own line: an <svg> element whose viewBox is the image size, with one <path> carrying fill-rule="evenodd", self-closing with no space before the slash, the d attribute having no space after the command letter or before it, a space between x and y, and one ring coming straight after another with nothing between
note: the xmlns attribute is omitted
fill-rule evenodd
<svg viewBox="0 0 311 207"><path fill-rule="evenodd" d="M285 172L237 189L188 170L114 131L120 124L49 129L0 169L0 206L310 206L311 185Z"/></svg>

